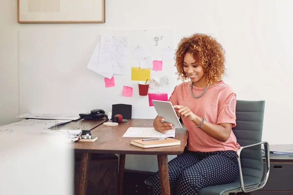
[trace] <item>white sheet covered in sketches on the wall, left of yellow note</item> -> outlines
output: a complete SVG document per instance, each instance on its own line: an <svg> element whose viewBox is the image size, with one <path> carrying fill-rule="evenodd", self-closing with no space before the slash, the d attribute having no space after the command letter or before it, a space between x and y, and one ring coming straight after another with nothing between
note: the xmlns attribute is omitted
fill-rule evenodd
<svg viewBox="0 0 293 195"><path fill-rule="evenodd" d="M125 36L102 35L98 72L124 75L127 44Z"/></svg>

